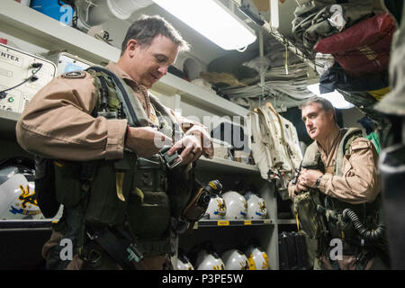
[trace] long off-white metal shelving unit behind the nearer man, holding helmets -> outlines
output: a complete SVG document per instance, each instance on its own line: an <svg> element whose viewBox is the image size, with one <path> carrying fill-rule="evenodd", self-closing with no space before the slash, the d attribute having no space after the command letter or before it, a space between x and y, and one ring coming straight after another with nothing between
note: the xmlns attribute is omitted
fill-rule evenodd
<svg viewBox="0 0 405 288"><path fill-rule="evenodd" d="M0 31L15 37L18 35L18 38L43 49L67 50L69 53L94 64L101 65L108 61L117 61L120 56L120 49L101 40L96 40L82 31L63 25L29 7L18 4L14 0L3 1L0 5ZM244 117L249 112L235 103L171 74L162 77L151 90L168 97L179 97L180 102L206 109L219 116ZM20 114L16 112L0 110L0 132L2 135L8 135L9 139L15 139L15 124L19 116ZM21 148L18 144L14 144L15 151L20 151ZM10 144L8 145L10 148ZM230 244L237 238L256 236L260 238L269 256L270 267L278 269L278 225L294 224L295 220L276 219L275 191L260 177L257 166L222 158L207 159L202 157L197 162L197 171L202 174L202 178L203 175L206 175L207 179L212 174L224 175L225 182L248 178L248 182L251 184L259 184L262 187L259 193L266 201L269 218L265 220L200 220L194 226L195 238L184 235L180 238L180 245L190 246L193 241L198 241L202 234L204 235L202 238L211 238L212 235L215 235L220 237L218 241L227 239ZM49 229L50 222L51 220L2 220L0 221L0 231L4 232L9 229L46 230Z"/></svg>

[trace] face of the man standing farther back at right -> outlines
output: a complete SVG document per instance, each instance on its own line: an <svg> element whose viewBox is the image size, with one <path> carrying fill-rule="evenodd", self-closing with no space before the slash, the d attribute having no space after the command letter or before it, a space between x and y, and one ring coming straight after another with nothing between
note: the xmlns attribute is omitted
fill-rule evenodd
<svg viewBox="0 0 405 288"><path fill-rule="evenodd" d="M302 108L302 121L311 139L325 139L335 126L333 111L324 111L320 103L311 103Z"/></svg>

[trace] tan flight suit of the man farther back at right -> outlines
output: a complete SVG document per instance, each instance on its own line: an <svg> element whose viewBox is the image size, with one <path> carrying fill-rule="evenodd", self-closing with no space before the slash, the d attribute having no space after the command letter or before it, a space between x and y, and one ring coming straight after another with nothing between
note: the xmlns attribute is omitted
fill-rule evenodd
<svg viewBox="0 0 405 288"><path fill-rule="evenodd" d="M343 175L333 175L338 145L342 138L343 133L336 128L329 134L326 147L321 147L317 142L320 157L326 169L326 173L320 180L320 192L352 204L373 202L381 191L377 170L378 153L370 140L357 138L352 142L348 154L343 159ZM290 182L289 194L293 194L293 189L294 186ZM329 262L326 259L324 261ZM344 255L343 260L338 260L338 263L342 270L356 267L356 259L352 256ZM372 264L373 259L365 269L369 269Z"/></svg>

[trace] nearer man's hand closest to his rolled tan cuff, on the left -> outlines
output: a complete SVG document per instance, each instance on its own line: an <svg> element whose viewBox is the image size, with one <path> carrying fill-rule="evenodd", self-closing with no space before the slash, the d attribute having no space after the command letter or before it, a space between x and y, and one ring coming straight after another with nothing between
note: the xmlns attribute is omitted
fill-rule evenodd
<svg viewBox="0 0 405 288"><path fill-rule="evenodd" d="M130 127L125 147L137 153L139 157L152 157L165 145L171 146L172 139L151 127Z"/></svg>

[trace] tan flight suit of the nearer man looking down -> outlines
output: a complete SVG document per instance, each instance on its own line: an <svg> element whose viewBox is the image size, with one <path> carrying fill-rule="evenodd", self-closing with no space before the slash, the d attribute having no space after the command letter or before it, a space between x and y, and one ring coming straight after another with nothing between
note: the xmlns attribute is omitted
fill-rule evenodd
<svg viewBox="0 0 405 288"><path fill-rule="evenodd" d="M148 115L151 126L158 126L157 114L150 103L150 97L154 96L124 73L116 63L110 62L107 68L130 86ZM76 78L62 75L53 79L35 94L23 111L16 125L18 143L25 150L41 157L76 161L122 158L127 120L91 116L96 95L93 76L86 72ZM185 135L201 135L204 144L202 154L211 158L213 148L206 128L201 123L175 115L172 110L169 112L175 116ZM53 232L43 247L45 258L49 257L49 249L58 245L61 237L60 233ZM161 269L165 262L165 257L145 259L149 269ZM81 266L82 261L75 256L67 269L78 269Z"/></svg>

